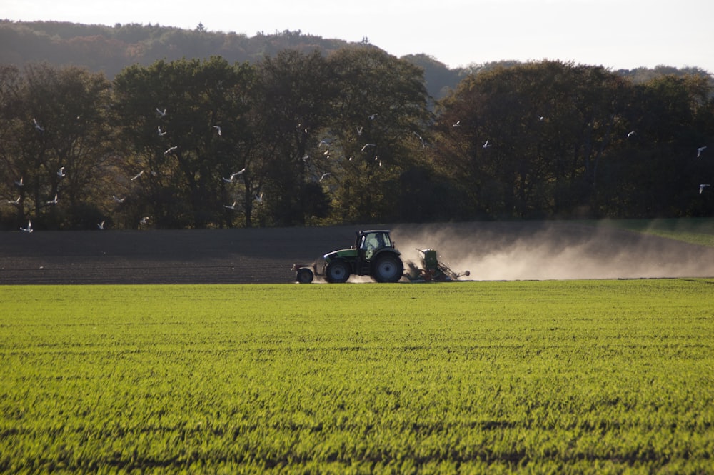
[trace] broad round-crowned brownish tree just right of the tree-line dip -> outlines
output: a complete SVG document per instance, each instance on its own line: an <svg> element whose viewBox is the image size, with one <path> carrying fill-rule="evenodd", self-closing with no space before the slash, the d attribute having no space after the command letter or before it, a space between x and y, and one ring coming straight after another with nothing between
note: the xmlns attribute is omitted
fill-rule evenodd
<svg viewBox="0 0 714 475"><path fill-rule="evenodd" d="M466 216L544 216L593 205L624 81L559 61L468 76L441 101L435 160ZM580 212L580 211L578 211Z"/></svg>

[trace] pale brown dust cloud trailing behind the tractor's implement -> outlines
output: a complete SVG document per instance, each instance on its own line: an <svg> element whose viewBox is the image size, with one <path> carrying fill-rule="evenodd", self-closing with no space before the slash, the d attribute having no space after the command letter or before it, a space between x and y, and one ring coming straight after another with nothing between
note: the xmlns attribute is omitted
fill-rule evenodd
<svg viewBox="0 0 714 475"><path fill-rule="evenodd" d="M398 225L404 261L436 249L461 280L714 276L714 249L577 221Z"/></svg>

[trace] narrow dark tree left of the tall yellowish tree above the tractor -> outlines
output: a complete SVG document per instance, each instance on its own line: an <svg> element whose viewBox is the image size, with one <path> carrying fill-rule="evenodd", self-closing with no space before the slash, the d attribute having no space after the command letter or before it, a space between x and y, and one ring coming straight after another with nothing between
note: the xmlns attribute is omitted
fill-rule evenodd
<svg viewBox="0 0 714 475"><path fill-rule="evenodd" d="M263 224L306 224L307 203L322 201L315 183L329 169L318 155L338 84L318 51L284 50L258 63L254 126L261 142L258 189L268 196Z"/></svg>

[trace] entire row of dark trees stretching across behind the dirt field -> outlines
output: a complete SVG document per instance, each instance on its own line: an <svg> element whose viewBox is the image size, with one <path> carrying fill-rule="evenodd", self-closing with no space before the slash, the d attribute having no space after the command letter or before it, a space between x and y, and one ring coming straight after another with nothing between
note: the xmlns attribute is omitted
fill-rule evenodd
<svg viewBox="0 0 714 475"><path fill-rule="evenodd" d="M0 225L18 229L711 216L714 101L561 61L465 76L369 44L114 79L0 66Z"/></svg>

